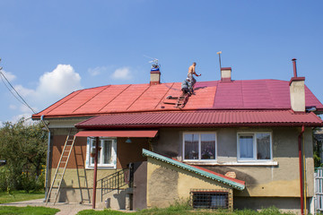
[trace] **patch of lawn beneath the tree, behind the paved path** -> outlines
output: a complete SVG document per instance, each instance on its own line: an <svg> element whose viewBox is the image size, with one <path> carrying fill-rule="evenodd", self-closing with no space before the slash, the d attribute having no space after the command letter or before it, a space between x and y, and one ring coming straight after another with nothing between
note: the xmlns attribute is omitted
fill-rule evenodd
<svg viewBox="0 0 323 215"><path fill-rule="evenodd" d="M26 193L24 191L0 192L0 203L22 202L44 198L43 192Z"/></svg>

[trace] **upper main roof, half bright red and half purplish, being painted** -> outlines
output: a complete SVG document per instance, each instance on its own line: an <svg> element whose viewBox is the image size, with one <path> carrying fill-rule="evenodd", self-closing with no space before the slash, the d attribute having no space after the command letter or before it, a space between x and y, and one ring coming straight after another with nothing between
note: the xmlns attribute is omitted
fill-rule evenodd
<svg viewBox="0 0 323 215"><path fill-rule="evenodd" d="M33 118L98 116L109 113L178 110L163 104L168 96L179 96L180 83L107 85L77 90L44 109ZM307 107L323 110L323 105L305 87ZM290 109L288 81L251 80L196 82L195 95L183 110L196 109Z"/></svg>

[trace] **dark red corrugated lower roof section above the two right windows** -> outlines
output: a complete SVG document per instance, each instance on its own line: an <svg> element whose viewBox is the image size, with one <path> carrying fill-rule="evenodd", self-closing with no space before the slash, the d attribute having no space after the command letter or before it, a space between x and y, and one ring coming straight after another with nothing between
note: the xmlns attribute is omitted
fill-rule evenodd
<svg viewBox="0 0 323 215"><path fill-rule="evenodd" d="M214 127L214 126L323 126L314 113L291 110L196 110L124 113L95 116L78 128Z"/></svg>

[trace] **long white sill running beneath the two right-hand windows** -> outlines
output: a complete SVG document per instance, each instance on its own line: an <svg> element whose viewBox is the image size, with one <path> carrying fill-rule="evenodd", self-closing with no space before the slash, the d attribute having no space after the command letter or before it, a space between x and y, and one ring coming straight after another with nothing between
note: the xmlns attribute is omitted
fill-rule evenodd
<svg viewBox="0 0 323 215"><path fill-rule="evenodd" d="M278 166L277 161L238 161L238 162L217 162L217 161L184 161L184 163L197 166Z"/></svg>

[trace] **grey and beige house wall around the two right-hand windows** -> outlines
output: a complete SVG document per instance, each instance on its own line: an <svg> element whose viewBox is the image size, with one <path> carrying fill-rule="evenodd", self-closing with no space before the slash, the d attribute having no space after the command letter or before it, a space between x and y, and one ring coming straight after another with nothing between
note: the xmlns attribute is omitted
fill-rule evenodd
<svg viewBox="0 0 323 215"><path fill-rule="evenodd" d="M300 172L298 135L301 128L219 128L219 129L161 129L154 152L182 160L182 136L188 131L214 131L217 134L217 161L204 166L225 174L235 172L238 179L246 182L244 191L235 191L234 196L243 197L300 197ZM273 161L266 166L250 166L237 162L238 132L272 132ZM307 196L313 196L313 159L311 129L304 133ZM225 165L223 165L225 163ZM202 164L201 164L202 165Z"/></svg>

